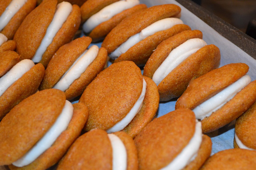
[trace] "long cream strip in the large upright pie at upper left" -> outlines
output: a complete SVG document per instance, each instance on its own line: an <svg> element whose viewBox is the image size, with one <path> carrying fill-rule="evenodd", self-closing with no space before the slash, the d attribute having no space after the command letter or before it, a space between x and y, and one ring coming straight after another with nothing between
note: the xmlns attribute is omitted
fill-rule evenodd
<svg viewBox="0 0 256 170"><path fill-rule="evenodd" d="M64 22L67 20L71 11L72 5L69 2L62 2L57 5L52 22L48 26L46 34L42 39L40 46L37 48L35 55L32 58L35 63L41 61L42 56L46 51L46 48L52 43L53 38L62 27Z"/></svg>

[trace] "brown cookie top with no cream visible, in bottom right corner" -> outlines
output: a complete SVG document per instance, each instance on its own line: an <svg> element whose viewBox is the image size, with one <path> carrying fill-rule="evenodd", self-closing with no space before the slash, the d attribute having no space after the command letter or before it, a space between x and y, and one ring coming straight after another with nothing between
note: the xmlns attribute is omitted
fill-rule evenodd
<svg viewBox="0 0 256 170"><path fill-rule="evenodd" d="M200 170L255 170L256 151L228 149L211 156Z"/></svg>

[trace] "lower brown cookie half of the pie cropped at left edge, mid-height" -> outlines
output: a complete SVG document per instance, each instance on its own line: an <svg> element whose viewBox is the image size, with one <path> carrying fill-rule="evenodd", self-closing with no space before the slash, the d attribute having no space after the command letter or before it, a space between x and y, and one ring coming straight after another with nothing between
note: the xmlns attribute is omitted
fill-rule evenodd
<svg viewBox="0 0 256 170"><path fill-rule="evenodd" d="M13 52L15 53L15 52ZM34 65L0 96L0 120L18 103L34 94L43 79L45 68Z"/></svg>

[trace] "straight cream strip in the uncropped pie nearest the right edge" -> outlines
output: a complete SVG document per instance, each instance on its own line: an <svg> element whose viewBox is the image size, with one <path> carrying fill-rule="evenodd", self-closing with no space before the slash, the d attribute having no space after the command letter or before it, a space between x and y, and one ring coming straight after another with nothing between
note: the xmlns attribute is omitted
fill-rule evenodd
<svg viewBox="0 0 256 170"><path fill-rule="evenodd" d="M232 83L204 103L198 105L193 109L197 119L203 120L210 116L213 112L220 109L229 100L231 100L239 91L241 91L247 84L251 82L248 75L242 76L236 82Z"/></svg>

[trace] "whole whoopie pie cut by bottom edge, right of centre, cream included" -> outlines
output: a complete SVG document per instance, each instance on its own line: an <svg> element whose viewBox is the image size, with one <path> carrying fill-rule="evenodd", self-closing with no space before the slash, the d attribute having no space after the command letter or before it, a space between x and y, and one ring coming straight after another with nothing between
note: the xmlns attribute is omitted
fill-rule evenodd
<svg viewBox="0 0 256 170"><path fill-rule="evenodd" d="M155 118L134 142L141 170L196 170L211 153L211 139L202 134L201 122L189 109Z"/></svg>

